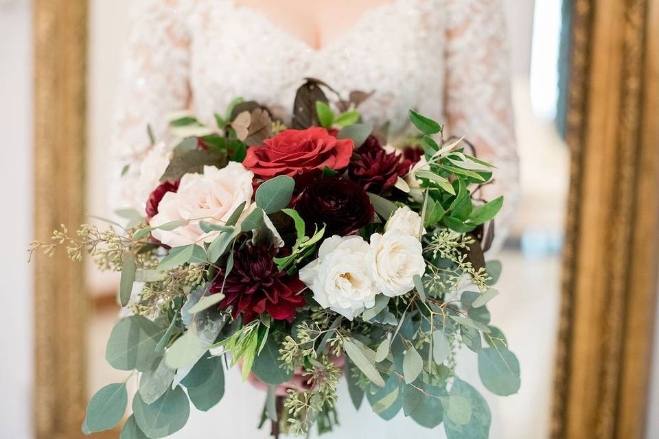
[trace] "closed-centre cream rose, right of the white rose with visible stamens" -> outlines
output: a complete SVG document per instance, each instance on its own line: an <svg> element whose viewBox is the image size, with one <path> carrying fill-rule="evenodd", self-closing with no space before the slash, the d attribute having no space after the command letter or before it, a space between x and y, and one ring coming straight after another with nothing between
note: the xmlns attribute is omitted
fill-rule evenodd
<svg viewBox="0 0 659 439"><path fill-rule="evenodd" d="M421 242L401 230L371 235L367 264L376 287L389 297L411 291L414 275L423 276L426 272Z"/></svg>

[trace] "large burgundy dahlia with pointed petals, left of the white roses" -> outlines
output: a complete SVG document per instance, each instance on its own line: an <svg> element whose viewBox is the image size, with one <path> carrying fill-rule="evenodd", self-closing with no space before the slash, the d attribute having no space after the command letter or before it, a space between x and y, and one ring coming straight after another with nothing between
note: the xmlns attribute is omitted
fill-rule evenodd
<svg viewBox="0 0 659 439"><path fill-rule="evenodd" d="M234 318L242 313L242 322L248 323L262 313L275 320L292 322L295 311L305 305L300 292L305 285L297 277L279 272L273 258L281 256L273 246L246 244L233 253L233 270L224 280L224 270L211 286L211 294L224 293L218 308L232 307ZM222 290L224 283L224 290Z"/></svg>

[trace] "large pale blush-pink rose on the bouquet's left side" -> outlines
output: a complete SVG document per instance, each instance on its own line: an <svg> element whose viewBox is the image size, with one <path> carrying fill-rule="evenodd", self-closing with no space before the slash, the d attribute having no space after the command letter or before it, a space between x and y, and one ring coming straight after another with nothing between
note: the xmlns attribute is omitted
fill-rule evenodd
<svg viewBox="0 0 659 439"><path fill-rule="evenodd" d="M203 174L185 174L177 192L165 193L150 226L181 219L188 224L174 230L153 230L152 235L170 247L213 241L217 233L204 233L199 222L222 225L240 204L249 204L253 177L252 171L236 162L230 162L222 169L205 166Z"/></svg>

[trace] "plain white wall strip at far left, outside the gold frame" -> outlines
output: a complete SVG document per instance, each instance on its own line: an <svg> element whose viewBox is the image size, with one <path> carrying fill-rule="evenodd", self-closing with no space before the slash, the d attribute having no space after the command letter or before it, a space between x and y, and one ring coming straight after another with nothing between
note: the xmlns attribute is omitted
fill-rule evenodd
<svg viewBox="0 0 659 439"><path fill-rule="evenodd" d="M0 438L32 437L32 27L30 2L0 0Z"/></svg>

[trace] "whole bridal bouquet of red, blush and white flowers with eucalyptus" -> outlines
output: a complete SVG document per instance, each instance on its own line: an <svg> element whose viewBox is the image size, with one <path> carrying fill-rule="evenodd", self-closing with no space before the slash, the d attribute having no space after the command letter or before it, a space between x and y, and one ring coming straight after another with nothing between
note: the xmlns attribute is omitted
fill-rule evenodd
<svg viewBox="0 0 659 439"><path fill-rule="evenodd" d="M106 359L139 380L123 439L178 431L190 403L222 399L233 366L264 388L255 419L275 436L331 430L345 377L356 408L366 399L386 420L402 411L448 438L486 438L487 403L456 375L462 346L485 388L518 391L486 306L501 270L483 257L503 202L479 198L493 166L414 111L418 134L386 143L360 117L366 93L330 102L328 90L299 88L292 129L240 99L213 128L174 119L176 146L154 145L141 169L146 211L122 212L132 224L62 226L32 244L121 271L125 316ZM126 381L92 397L85 433L121 422Z"/></svg>

